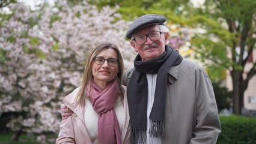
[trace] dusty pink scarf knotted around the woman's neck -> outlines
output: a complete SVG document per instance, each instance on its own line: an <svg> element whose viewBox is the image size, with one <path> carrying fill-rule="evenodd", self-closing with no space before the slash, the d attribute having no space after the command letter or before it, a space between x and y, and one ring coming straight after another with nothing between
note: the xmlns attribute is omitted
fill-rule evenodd
<svg viewBox="0 0 256 144"><path fill-rule="evenodd" d="M99 114L98 135L100 144L121 144L119 122L114 110L117 100L117 85L117 82L112 80L105 89L102 89L94 80L91 82L88 95L94 111Z"/></svg>

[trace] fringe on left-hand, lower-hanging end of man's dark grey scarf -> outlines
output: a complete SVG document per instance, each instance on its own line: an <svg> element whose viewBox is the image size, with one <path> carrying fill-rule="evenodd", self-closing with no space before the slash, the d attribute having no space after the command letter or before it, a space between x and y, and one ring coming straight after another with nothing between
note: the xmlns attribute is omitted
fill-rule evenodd
<svg viewBox="0 0 256 144"><path fill-rule="evenodd" d="M132 128L130 131L130 143L146 143L147 134L144 128Z"/></svg>

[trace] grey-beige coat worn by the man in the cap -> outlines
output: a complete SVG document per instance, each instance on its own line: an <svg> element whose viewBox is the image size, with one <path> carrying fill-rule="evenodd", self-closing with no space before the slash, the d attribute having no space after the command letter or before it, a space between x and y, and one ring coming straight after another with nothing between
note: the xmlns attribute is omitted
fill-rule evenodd
<svg viewBox="0 0 256 144"><path fill-rule="evenodd" d="M124 85L133 70L127 69ZM212 144L218 139L221 124L212 83L195 62L183 59L168 72L165 128L162 144Z"/></svg>

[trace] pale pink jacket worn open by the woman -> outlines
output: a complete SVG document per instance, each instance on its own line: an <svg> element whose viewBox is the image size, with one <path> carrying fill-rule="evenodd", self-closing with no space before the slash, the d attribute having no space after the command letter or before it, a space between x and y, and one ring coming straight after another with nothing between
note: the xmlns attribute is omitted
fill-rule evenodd
<svg viewBox="0 0 256 144"><path fill-rule="evenodd" d="M126 89L126 86L124 86ZM85 128L84 107L75 103L75 97L78 94L79 88L76 88L72 93L67 95L63 103L69 107L74 113L67 119L61 121L59 126L59 135L56 139L58 144L76 143L76 144L93 144L91 138ZM126 92L123 99L124 115L126 116L123 131L121 131L122 143L129 143L130 126L129 126L129 110L127 106Z"/></svg>

